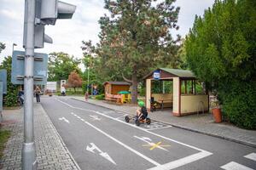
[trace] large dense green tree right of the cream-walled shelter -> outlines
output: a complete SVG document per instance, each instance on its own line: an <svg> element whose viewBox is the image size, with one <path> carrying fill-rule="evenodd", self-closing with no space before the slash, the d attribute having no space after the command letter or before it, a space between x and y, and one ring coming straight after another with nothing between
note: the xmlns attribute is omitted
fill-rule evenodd
<svg viewBox="0 0 256 170"><path fill-rule="evenodd" d="M256 2L216 0L186 37L189 67L214 82L230 122L256 128Z"/></svg>

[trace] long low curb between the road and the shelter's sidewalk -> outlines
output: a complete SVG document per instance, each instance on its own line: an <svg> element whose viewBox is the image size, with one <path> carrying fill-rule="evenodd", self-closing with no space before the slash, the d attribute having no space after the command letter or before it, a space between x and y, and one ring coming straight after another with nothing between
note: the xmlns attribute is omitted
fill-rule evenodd
<svg viewBox="0 0 256 170"><path fill-rule="evenodd" d="M88 103L90 105L96 105L94 103L90 103L89 102L85 102L84 100L82 99L77 99L75 97L71 97L72 99L76 99L78 101L81 101L81 102L84 102L84 103ZM107 106L104 106L104 105L97 105L97 106L100 106L100 107L103 107L103 108L107 108L109 110L113 110L113 111L119 111L117 109L113 109L113 108L109 108ZM127 112L127 111L120 111L120 112L124 112L125 114L128 114L128 115L132 115L131 113ZM162 122L162 121L158 121L158 120L155 120L155 119L151 119L155 122ZM225 139L225 140L229 140L229 141L232 141L232 142L236 142L238 144L245 144L247 146L251 146L253 148L256 148L256 144L251 144L251 143L248 143L248 142L244 142L244 141L241 141L241 140L237 140L237 139L232 139L232 138L228 138L228 137L224 137L224 136L219 136L217 134L212 134L212 133L206 133L206 132L202 132L202 131L199 131L199 130L195 130L193 128L189 128L189 127L183 127L183 126L179 126L179 125L176 125L176 124L172 124L170 122L162 122L162 123L165 123L165 124L168 124L168 125L171 125L172 127L178 127L178 128L181 128L181 129L184 129L184 130L188 130L188 131L191 131L191 132L195 132L195 133L201 133L201 134L206 134L208 136L212 136L212 137L216 137L218 139Z"/></svg>

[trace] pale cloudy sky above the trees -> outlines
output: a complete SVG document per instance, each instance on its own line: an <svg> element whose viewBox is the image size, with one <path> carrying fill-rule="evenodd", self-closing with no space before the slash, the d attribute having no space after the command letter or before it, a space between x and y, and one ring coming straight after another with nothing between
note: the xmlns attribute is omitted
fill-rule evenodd
<svg viewBox="0 0 256 170"><path fill-rule="evenodd" d="M104 0L62 0L77 6L72 20L57 20L55 26L45 26L45 33L52 37L53 44L44 43L44 48L35 52L49 54L51 52L65 52L76 58L82 58L82 41L92 40L94 44L99 42L98 33L100 26L98 20L103 14L108 14L104 9ZM0 54L0 62L3 57L12 54L13 43L15 50L23 50L23 20L24 0L0 0L0 42L6 44L6 48ZM177 25L178 31L172 31L173 36L180 34L182 37L193 26L195 14L202 15L206 8L212 7L214 0L177 0L175 6L179 6L180 13Z"/></svg>

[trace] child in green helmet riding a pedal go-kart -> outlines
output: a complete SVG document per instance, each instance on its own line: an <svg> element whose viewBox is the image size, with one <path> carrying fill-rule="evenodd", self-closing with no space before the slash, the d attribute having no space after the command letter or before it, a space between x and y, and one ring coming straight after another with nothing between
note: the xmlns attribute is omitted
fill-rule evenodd
<svg viewBox="0 0 256 170"><path fill-rule="evenodd" d="M125 116L125 122L130 122L131 120L135 121L137 126L140 126L141 123L147 123L148 125L151 123L150 118L148 117L148 111L145 107L143 101L139 101L137 103L139 105L139 109L137 109L137 116Z"/></svg>

